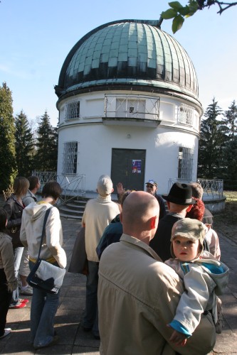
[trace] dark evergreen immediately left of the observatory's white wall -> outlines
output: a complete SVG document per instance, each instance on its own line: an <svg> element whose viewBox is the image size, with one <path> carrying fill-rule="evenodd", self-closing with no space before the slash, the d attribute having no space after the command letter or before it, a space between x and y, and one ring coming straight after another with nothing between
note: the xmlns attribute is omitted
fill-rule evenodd
<svg viewBox="0 0 237 355"><path fill-rule="evenodd" d="M58 133L51 126L47 111L41 116L37 130L37 151L35 159L36 170L56 171L58 159Z"/></svg>

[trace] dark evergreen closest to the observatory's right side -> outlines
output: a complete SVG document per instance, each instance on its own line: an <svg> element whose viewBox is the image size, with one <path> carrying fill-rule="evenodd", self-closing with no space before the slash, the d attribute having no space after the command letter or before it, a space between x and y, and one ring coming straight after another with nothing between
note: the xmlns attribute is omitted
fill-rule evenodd
<svg viewBox="0 0 237 355"><path fill-rule="evenodd" d="M214 98L204 113L206 119L201 120L198 167L201 178L220 178L223 168L222 148L226 142L223 121L218 119L221 114L222 110Z"/></svg>

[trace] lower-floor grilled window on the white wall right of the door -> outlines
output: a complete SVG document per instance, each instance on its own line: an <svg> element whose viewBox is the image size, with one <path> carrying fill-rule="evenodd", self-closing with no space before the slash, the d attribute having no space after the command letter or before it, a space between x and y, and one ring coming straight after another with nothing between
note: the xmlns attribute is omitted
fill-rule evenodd
<svg viewBox="0 0 237 355"><path fill-rule="evenodd" d="M191 180L193 173L194 149L179 147L178 178Z"/></svg>

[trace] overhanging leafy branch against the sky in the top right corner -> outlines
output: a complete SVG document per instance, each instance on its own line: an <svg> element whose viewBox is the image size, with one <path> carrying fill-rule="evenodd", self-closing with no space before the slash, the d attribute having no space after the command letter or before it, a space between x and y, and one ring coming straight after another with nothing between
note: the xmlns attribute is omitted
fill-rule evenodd
<svg viewBox="0 0 237 355"><path fill-rule="evenodd" d="M179 1L169 2L170 8L167 11L163 11L161 17L164 20L173 18L172 31L176 33L183 26L184 19L193 16L196 11L203 10L206 7L217 5L218 11L221 15L223 11L226 11L231 6L236 6L237 2L222 2L218 0L189 0L188 5L182 6Z"/></svg>

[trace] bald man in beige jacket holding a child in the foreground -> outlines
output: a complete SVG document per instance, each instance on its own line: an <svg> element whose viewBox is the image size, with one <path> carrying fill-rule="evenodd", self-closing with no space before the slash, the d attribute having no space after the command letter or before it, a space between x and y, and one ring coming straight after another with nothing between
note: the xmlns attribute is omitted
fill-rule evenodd
<svg viewBox="0 0 237 355"><path fill-rule="evenodd" d="M147 192L132 192L120 215L120 242L102 253L98 309L100 354L204 355L213 348L216 332L211 316L202 317L186 346L169 341L183 293L179 276L149 247L159 219L159 204Z"/></svg>

